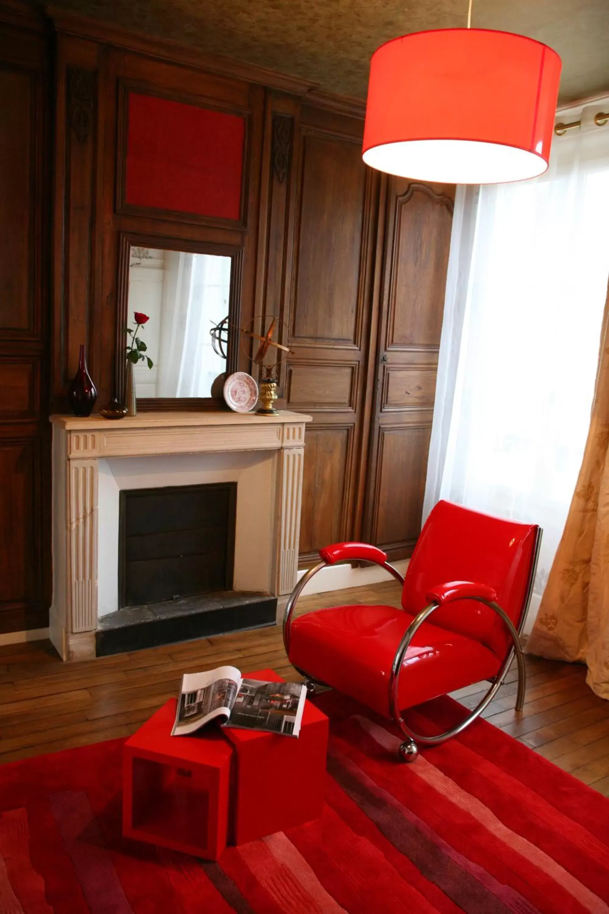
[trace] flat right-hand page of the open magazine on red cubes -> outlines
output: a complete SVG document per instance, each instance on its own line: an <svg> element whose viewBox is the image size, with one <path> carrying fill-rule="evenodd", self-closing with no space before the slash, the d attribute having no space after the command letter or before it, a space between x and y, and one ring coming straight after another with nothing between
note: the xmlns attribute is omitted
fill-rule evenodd
<svg viewBox="0 0 609 914"><path fill-rule="evenodd" d="M300 683L242 679L228 720L222 726L298 737L306 697L306 686Z"/></svg>

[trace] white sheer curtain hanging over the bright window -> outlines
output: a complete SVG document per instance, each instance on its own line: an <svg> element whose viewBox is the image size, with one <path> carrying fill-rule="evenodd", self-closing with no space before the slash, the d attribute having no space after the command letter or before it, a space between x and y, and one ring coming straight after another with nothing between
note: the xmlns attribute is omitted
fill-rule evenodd
<svg viewBox="0 0 609 914"><path fill-rule="evenodd" d="M545 175L457 190L424 514L447 498L541 524L527 629L590 423L609 274L601 110L554 138Z"/></svg>

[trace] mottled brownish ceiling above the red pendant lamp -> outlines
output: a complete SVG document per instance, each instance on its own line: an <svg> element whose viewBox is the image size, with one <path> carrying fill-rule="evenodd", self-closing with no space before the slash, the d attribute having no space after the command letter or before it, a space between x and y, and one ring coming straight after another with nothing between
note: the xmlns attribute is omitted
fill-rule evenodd
<svg viewBox="0 0 609 914"><path fill-rule="evenodd" d="M383 41L467 22L467 0L56 0L55 5L360 98L370 57ZM558 51L563 103L609 93L609 0L473 0L472 26L528 35Z"/></svg>

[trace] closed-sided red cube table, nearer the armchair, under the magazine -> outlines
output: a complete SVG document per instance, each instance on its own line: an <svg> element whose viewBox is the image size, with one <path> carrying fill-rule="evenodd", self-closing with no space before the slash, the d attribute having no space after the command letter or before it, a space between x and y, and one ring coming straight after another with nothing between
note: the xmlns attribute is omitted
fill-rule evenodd
<svg viewBox="0 0 609 914"><path fill-rule="evenodd" d="M243 677L284 681L273 670ZM306 702L298 739L230 727L222 732L235 749L232 842L243 845L320 817L328 717L317 707Z"/></svg>

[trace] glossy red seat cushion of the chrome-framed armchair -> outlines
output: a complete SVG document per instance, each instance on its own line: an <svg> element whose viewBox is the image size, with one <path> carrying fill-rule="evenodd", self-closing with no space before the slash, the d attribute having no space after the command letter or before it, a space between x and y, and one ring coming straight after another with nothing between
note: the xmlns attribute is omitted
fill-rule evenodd
<svg viewBox="0 0 609 914"><path fill-rule="evenodd" d="M339 606L299 616L289 660L299 670L389 716L395 652L414 616L392 606ZM484 644L424 622L404 657L400 709L488 679L500 661Z"/></svg>

